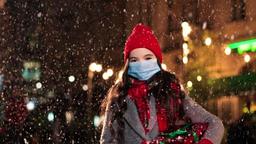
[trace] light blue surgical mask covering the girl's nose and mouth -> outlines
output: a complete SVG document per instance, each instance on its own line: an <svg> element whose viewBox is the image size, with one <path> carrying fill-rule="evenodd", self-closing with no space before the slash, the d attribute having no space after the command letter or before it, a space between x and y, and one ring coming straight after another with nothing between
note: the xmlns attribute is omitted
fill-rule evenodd
<svg viewBox="0 0 256 144"><path fill-rule="evenodd" d="M138 80L148 80L160 70L156 59L152 59L145 62L129 63L128 74L136 77Z"/></svg>

